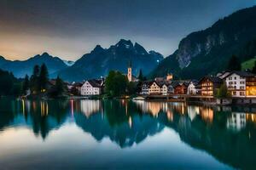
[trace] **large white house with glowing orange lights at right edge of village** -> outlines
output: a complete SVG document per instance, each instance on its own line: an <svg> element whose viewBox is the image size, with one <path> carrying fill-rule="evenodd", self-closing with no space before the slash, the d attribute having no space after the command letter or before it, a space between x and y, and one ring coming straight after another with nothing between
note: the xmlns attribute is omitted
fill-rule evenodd
<svg viewBox="0 0 256 170"><path fill-rule="evenodd" d="M232 71L225 77L232 97L256 97L256 76L245 71Z"/></svg>

